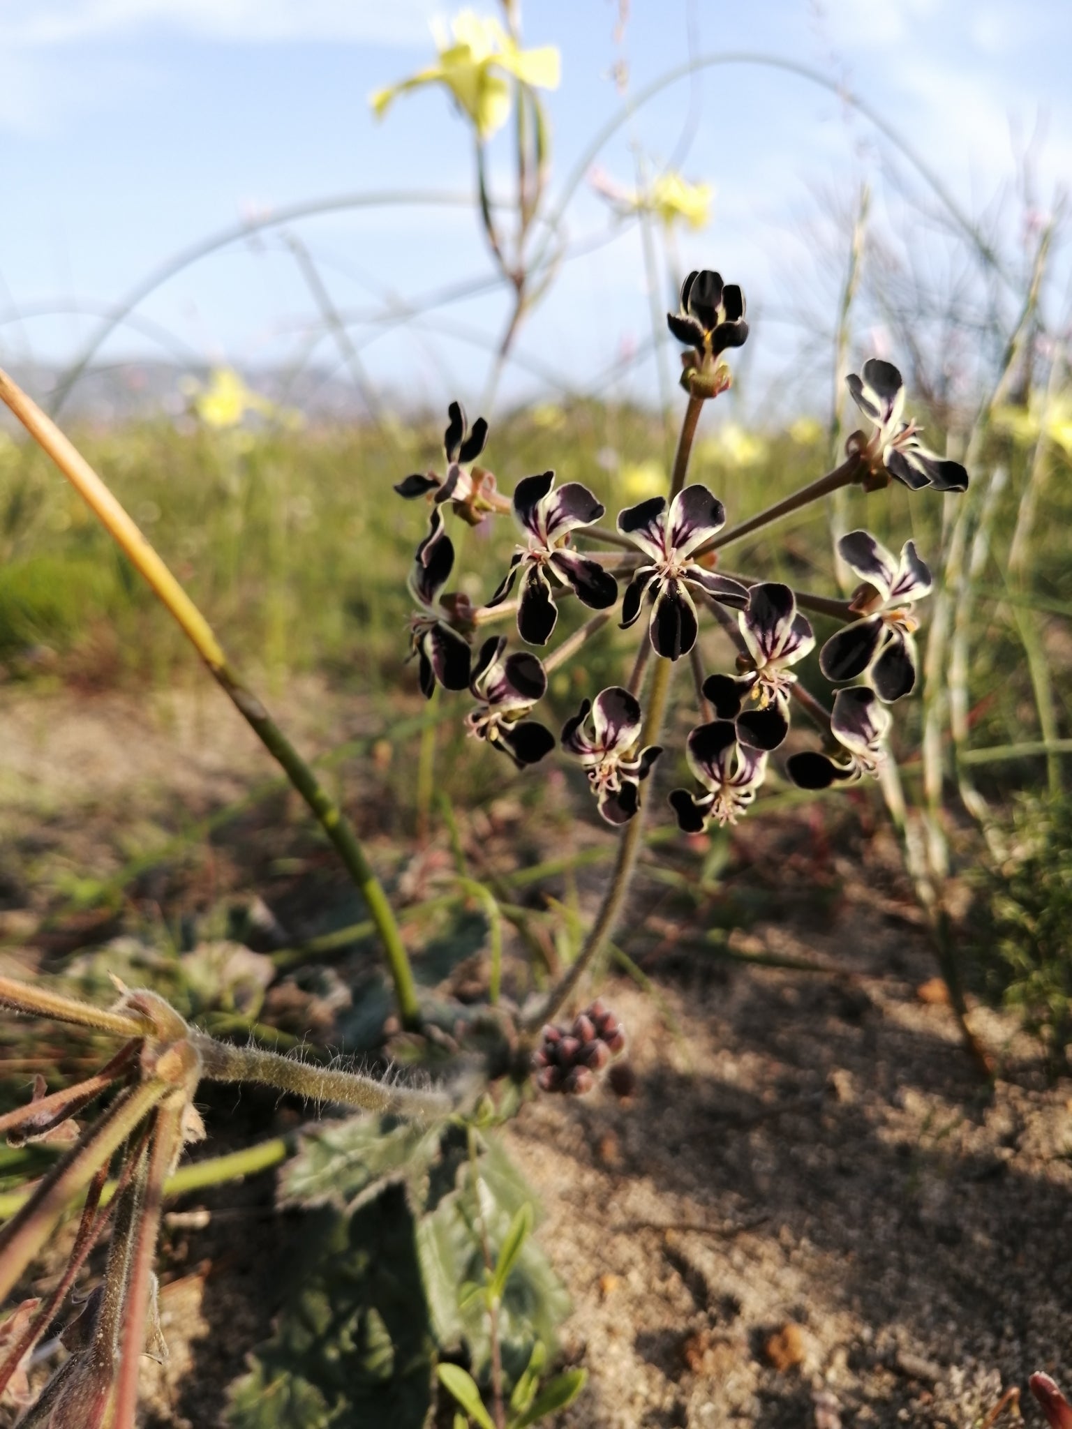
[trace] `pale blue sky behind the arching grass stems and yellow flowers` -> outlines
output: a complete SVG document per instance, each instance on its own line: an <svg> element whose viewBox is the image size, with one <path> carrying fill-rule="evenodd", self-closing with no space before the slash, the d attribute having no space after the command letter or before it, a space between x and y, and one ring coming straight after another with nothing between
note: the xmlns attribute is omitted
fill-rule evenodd
<svg viewBox="0 0 1072 1429"><path fill-rule="evenodd" d="M493 11L490 0L476 9ZM430 0L0 0L0 309L24 314L0 329L3 360L70 357L91 319L34 316L41 307L111 303L169 254L246 214L347 191L470 191L467 131L442 91L400 100L382 123L367 104L372 90L429 61L429 21L449 13ZM630 0L620 43L612 0L527 0L523 19L526 44L562 50L562 86L547 99L559 183L622 101L612 66L626 60L636 93L685 61L690 44L699 54L766 51L843 81L973 213L1009 183L1032 136L1038 206L1048 210L1072 177L1068 0ZM627 186L635 149L657 167L686 124L680 167L716 197L710 226L680 234L679 262L719 267L745 286L759 317L755 362L773 372L776 354L799 340L786 319L802 294L833 303L830 207L848 206L866 179L873 223L896 223L896 176L909 170L890 166L889 144L836 96L756 66L708 70L667 90L599 164ZM507 167L500 139L493 176ZM569 231L612 231L587 186ZM252 369L294 360L319 319L287 234L306 244L344 313L489 273L463 207L337 213L186 270L139 309L167 342L153 327L124 329L107 360L169 352ZM1015 231L1006 239L1015 247ZM495 340L505 304L496 293L439 310L433 330L394 326L383 336L380 324L353 334L376 339L362 349L376 386L436 406L449 392L476 402L487 369L479 343ZM563 382L585 383L649 336L630 227L563 267L519 349ZM337 362L330 340L312 360ZM652 367L635 380L650 389ZM533 383L513 370L505 396Z"/></svg>

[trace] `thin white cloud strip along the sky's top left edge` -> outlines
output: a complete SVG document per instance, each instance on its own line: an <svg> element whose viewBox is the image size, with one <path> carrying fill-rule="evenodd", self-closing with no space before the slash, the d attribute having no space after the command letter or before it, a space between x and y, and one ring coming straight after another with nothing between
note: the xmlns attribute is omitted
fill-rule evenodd
<svg viewBox="0 0 1072 1429"><path fill-rule="evenodd" d="M436 0L3 0L4 47L182 33L210 40L415 44Z"/></svg>

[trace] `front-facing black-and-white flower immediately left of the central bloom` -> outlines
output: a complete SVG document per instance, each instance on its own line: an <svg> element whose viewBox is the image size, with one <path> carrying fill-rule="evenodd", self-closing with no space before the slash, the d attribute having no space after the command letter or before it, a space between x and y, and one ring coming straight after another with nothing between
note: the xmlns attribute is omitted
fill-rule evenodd
<svg viewBox="0 0 1072 1429"><path fill-rule="evenodd" d="M510 562L506 577L487 602L497 606L522 577L517 630L529 644L546 644L559 619L552 577L570 584L583 604L606 610L617 600L617 582L599 564L569 549L570 533L592 526L606 507L580 482L555 490L555 473L526 476L513 493L513 514L529 537Z"/></svg>

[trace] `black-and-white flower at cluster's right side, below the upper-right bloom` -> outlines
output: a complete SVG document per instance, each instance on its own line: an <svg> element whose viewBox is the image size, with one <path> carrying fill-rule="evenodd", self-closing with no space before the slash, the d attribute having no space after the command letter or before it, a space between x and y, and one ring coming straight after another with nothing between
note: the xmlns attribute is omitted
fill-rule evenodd
<svg viewBox="0 0 1072 1429"><path fill-rule="evenodd" d="M819 666L828 680L856 680L868 674L875 693L890 704L909 694L916 683L919 622L908 609L930 593L930 570L909 540L900 560L868 532L849 532L838 550L865 582L852 606L860 619L832 634L819 652Z"/></svg>

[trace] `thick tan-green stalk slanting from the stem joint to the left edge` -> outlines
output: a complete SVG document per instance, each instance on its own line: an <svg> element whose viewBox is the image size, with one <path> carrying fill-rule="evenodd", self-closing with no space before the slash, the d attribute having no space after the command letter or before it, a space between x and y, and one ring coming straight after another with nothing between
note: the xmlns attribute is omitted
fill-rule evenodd
<svg viewBox="0 0 1072 1429"><path fill-rule="evenodd" d="M111 1153L169 1090L167 1082L153 1080L117 1096L39 1182L30 1200L0 1230L0 1300L11 1292L70 1202L90 1185L97 1170L107 1165Z"/></svg>

